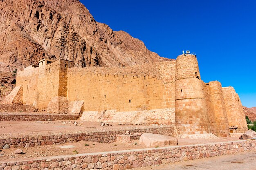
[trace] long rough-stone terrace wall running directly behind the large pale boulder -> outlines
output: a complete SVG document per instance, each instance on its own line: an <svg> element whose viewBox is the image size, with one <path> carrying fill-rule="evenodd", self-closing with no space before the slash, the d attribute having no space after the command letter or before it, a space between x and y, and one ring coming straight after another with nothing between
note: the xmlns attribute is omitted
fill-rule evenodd
<svg viewBox="0 0 256 170"><path fill-rule="evenodd" d="M93 141L112 143L117 140L117 135L125 134L129 130L132 133L156 133L174 136L173 126L139 126L123 128L102 128L85 130L68 130L56 132L29 132L20 134L0 135L0 149L23 148L43 145L64 144L66 142Z"/></svg>

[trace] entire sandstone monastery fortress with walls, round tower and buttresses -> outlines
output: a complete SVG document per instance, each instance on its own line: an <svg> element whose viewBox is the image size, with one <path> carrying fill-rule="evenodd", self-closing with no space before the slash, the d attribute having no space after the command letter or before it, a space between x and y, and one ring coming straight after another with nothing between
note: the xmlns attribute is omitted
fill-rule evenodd
<svg viewBox="0 0 256 170"><path fill-rule="evenodd" d="M204 83L191 54L128 67L73 68L71 61L44 59L17 73L18 87L25 105L54 113L83 112L86 121L172 124L180 137L229 136L231 126L236 132L247 130L234 88Z"/></svg>

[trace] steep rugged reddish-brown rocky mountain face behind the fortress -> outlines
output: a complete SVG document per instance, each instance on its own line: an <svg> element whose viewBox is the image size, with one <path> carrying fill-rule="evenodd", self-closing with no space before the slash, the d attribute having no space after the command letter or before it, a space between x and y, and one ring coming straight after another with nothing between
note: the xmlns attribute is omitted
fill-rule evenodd
<svg viewBox="0 0 256 170"><path fill-rule="evenodd" d="M170 60L124 31L96 22L79 0L0 0L0 71L42 58L74 66L128 66Z"/></svg>

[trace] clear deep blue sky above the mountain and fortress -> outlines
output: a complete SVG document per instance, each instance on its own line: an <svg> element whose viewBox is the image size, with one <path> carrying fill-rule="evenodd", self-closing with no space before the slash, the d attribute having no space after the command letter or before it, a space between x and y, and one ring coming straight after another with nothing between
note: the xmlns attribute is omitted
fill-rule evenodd
<svg viewBox="0 0 256 170"><path fill-rule="evenodd" d="M81 0L98 22L176 58L197 54L204 82L233 86L256 106L256 0Z"/></svg>

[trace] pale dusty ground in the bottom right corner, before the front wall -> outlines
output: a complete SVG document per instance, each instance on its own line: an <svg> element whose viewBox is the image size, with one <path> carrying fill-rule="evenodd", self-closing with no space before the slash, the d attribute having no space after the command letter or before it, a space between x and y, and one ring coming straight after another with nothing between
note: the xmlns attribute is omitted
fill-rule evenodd
<svg viewBox="0 0 256 170"><path fill-rule="evenodd" d="M133 170L256 170L256 151Z"/></svg>

